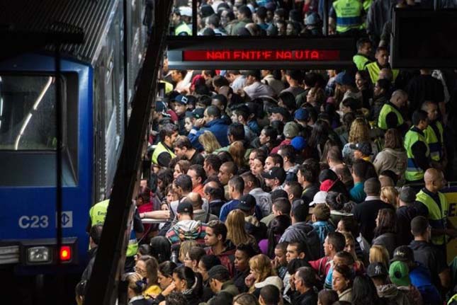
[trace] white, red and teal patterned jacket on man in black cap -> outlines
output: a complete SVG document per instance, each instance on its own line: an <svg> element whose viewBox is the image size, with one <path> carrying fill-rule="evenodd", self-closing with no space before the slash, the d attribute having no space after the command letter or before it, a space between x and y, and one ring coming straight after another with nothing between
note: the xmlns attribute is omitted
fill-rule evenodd
<svg viewBox="0 0 457 305"><path fill-rule="evenodd" d="M177 222L167 232L167 238L174 246L181 241L195 240L197 243L204 244L206 235L206 225L201 221L195 220L181 220Z"/></svg>

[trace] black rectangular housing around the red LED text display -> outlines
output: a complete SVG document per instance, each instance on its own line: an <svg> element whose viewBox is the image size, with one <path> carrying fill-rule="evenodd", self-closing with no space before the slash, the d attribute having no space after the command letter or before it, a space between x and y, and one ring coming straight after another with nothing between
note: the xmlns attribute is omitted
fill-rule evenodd
<svg viewBox="0 0 457 305"><path fill-rule="evenodd" d="M169 69L345 69L353 65L356 53L354 38L303 38L268 37L247 38L239 36L188 37L170 36L167 38ZM322 52L338 54L331 60L198 60L187 61L184 52L188 51L252 51L252 52ZM333 55L332 55L333 56ZM264 57L263 57L264 58Z"/></svg>

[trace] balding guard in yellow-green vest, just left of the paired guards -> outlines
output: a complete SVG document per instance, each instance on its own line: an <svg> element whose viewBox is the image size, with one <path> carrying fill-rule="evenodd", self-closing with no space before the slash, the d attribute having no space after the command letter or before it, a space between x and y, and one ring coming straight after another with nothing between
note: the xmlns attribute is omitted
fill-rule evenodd
<svg viewBox="0 0 457 305"><path fill-rule="evenodd" d="M379 113L378 127L381 130L395 128L405 134L407 125L400 109L406 105L407 100L408 95L405 91L397 90L392 93L390 101L383 105Z"/></svg>

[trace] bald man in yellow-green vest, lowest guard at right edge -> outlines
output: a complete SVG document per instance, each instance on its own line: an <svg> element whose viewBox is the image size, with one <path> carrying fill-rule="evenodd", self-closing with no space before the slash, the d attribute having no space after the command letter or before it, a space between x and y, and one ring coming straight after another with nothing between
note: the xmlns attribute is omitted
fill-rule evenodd
<svg viewBox="0 0 457 305"><path fill-rule="evenodd" d="M419 213L429 219L431 226L431 243L446 253L448 236L457 237L457 230L448 219L448 202L446 196L439 192L446 181L441 171L429 168L424 174L425 187L416 195L414 204Z"/></svg>

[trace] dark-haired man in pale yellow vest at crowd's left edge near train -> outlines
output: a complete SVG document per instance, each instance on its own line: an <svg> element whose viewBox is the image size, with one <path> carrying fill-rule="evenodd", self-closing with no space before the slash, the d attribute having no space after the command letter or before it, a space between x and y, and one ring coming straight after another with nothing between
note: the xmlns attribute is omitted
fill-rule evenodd
<svg viewBox="0 0 457 305"><path fill-rule="evenodd" d="M173 152L173 142L178 137L178 127L166 124L159 131L160 142L152 153L152 163L167 167L176 155Z"/></svg>

